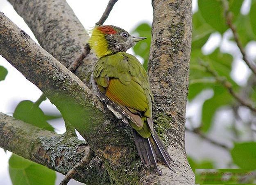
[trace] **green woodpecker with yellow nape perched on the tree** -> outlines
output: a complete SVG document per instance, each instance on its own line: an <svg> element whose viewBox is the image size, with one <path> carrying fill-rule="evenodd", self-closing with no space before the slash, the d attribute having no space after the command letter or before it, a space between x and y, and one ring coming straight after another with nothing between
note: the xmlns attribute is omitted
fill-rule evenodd
<svg viewBox="0 0 256 185"><path fill-rule="evenodd" d="M146 37L131 36L113 25L97 25L88 40L98 60L93 68L91 84L96 95L116 117L130 124L141 161L153 165L161 175L157 157L174 172L161 139L153 128L149 77L138 59L126 53Z"/></svg>

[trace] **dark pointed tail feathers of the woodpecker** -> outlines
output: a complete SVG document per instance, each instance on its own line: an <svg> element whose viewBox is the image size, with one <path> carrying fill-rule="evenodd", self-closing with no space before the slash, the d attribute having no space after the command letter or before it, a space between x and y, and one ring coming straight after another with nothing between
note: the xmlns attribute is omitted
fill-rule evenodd
<svg viewBox="0 0 256 185"><path fill-rule="evenodd" d="M162 141L160 140L154 129L151 133L151 136L148 138L141 137L140 134L138 134L138 132L134 130L134 139L138 153L140 155L140 159L145 165L148 166L153 164L155 169L159 172L159 174L161 174L157 166L157 156L159 157L159 159L161 159L161 161L165 163L168 168L170 168L170 170L175 172L170 166L172 159L170 158Z"/></svg>

